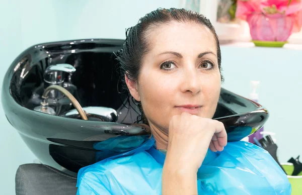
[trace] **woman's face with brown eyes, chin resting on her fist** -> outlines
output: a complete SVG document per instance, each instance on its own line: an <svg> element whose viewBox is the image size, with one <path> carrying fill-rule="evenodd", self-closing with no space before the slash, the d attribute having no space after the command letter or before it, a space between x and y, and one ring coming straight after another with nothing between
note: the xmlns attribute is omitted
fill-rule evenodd
<svg viewBox="0 0 302 195"><path fill-rule="evenodd" d="M149 41L138 83L127 81L131 95L141 101L149 125L167 133L172 117L182 112L212 118L220 93L220 72L211 31L196 23L171 22L153 28Z"/></svg>

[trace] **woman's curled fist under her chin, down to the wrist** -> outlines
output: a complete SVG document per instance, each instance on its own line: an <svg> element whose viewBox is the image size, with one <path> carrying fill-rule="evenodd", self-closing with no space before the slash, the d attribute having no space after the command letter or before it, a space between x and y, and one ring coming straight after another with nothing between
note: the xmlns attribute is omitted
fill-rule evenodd
<svg viewBox="0 0 302 195"><path fill-rule="evenodd" d="M227 135L221 122L188 113L174 116L169 125L166 160L197 172L210 150L222 151Z"/></svg>

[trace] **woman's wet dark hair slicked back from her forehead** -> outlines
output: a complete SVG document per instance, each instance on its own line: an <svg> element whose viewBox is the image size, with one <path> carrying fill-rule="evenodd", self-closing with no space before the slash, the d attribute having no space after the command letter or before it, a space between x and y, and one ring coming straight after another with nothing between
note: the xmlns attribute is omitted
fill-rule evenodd
<svg viewBox="0 0 302 195"><path fill-rule="evenodd" d="M149 14L146 14L144 17L139 19L138 24L126 30L126 40L123 44L123 47L115 54L116 59L119 62L117 68L120 73L120 79L122 81L121 84L124 92L126 92L127 95L129 95L129 89L125 83L124 75L126 74L130 81L138 83L138 75L140 73L143 57L149 51L152 44L152 34L150 32L153 28L161 25L168 25L172 21L194 22L196 24L206 26L212 32L216 40L217 61L221 75L221 53L219 40L210 21L203 15L193 11L176 8L159 8L153 12L150 12ZM222 75L221 81L223 81ZM144 124L148 124L148 121L144 116L141 103L134 100L133 97L132 101L138 106L138 109L141 112L141 115L139 115L137 118L137 123L142 122Z"/></svg>

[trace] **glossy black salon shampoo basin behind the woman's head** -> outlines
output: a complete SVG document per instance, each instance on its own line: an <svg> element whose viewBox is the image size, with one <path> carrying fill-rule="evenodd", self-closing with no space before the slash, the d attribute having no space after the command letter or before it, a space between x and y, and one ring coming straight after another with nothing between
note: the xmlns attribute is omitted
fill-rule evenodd
<svg viewBox="0 0 302 195"><path fill-rule="evenodd" d="M3 108L9 122L42 163L75 175L81 167L135 148L149 138L144 126L133 124L138 109L131 101L128 109L126 96L118 93L119 78L114 71L117 62L112 53L123 42L88 39L39 44L28 48L12 63L3 82ZM41 87L45 69L61 63L77 69L70 79L82 107L110 108L118 117L112 121L63 117L74 109L70 105L56 116L33 111L37 105L30 99L33 91ZM238 141L260 129L268 112L261 105L221 88L213 118L224 124L228 141Z"/></svg>

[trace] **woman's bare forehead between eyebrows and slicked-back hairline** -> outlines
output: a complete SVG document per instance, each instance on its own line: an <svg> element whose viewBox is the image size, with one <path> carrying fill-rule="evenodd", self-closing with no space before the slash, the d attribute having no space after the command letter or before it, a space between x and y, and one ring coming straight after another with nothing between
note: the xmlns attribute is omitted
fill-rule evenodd
<svg viewBox="0 0 302 195"><path fill-rule="evenodd" d="M210 51L216 54L216 40L204 25L193 22L170 22L150 32L150 52L177 51L197 53Z"/></svg>

